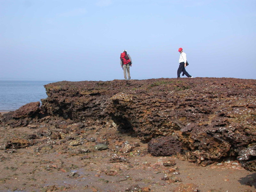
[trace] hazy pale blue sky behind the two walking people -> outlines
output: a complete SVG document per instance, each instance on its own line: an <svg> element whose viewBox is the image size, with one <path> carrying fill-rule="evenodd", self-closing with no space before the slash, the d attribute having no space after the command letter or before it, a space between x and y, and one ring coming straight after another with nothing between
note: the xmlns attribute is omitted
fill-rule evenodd
<svg viewBox="0 0 256 192"><path fill-rule="evenodd" d="M0 0L0 80L255 79L256 0Z"/></svg>

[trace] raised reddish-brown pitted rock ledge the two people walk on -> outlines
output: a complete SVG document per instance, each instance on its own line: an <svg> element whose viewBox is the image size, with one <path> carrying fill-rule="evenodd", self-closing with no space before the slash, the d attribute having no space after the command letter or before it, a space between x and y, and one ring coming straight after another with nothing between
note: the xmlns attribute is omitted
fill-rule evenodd
<svg viewBox="0 0 256 192"><path fill-rule="evenodd" d="M62 81L44 87L48 97L40 107L30 103L4 114L1 124L36 127L52 117L78 127L112 123L119 132L148 142L154 156L175 154L203 166L237 158L256 171L256 80Z"/></svg>

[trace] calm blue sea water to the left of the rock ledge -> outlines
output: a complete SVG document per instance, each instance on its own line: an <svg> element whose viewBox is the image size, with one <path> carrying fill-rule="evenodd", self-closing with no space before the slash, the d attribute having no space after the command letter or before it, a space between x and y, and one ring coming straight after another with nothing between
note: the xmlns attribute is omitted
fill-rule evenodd
<svg viewBox="0 0 256 192"><path fill-rule="evenodd" d="M0 81L0 111L12 111L47 97L45 84L56 81Z"/></svg>

